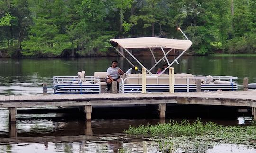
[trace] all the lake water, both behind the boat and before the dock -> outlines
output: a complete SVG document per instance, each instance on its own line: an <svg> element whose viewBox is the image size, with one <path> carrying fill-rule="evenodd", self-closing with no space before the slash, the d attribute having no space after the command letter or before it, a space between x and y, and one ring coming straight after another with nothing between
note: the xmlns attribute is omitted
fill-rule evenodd
<svg viewBox="0 0 256 153"><path fill-rule="evenodd" d="M149 57L139 59L145 61L146 66L154 62ZM106 71L112 60L118 60L119 67L124 71L131 67L124 59L117 57L0 59L0 95L42 94L43 82L48 84L50 93L53 76L75 76L82 70L86 71L87 76L91 76L94 71ZM256 57L183 56L178 62L179 65L174 64L175 73L236 76L236 82L240 85L244 77L249 78L249 83L256 82ZM16 125L9 125L8 110L0 109L0 153L161 153L156 142L124 134L123 131L130 125L161 122L157 115L140 115L139 118L128 115L126 119L115 119L106 118L104 113L97 117L92 114L93 119L88 123L76 112L18 114ZM173 119L172 115L167 116L165 122L171 118ZM181 118L193 121L196 116L176 116L174 119ZM244 118L236 117L214 119L207 116L203 119L209 120L222 125L246 123ZM175 153L182 152L184 148L175 150ZM190 152L198 150L192 148ZM243 144L219 143L206 147L201 152L255 153L256 149Z"/></svg>

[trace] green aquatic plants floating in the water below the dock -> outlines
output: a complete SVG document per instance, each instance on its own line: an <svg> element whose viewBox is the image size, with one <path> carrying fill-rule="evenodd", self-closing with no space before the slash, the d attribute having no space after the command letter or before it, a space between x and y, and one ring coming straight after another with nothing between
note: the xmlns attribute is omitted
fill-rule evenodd
<svg viewBox="0 0 256 153"><path fill-rule="evenodd" d="M256 147L256 124L251 126L221 126L213 122L202 123L197 119L193 123L181 122L140 125L129 127L125 131L129 135L150 135L150 140L158 142L161 152L173 152L178 148L189 152L205 152L214 145L243 144ZM187 151L188 151L187 150Z"/></svg>

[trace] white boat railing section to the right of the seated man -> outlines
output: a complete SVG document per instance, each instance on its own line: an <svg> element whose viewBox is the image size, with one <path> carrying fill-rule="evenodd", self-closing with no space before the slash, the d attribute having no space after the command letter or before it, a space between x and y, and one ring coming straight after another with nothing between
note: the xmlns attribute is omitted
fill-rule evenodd
<svg viewBox="0 0 256 153"><path fill-rule="evenodd" d="M134 79L132 83L130 83L130 80ZM132 86L140 88L138 86L142 85L141 81L142 77L126 77L124 79L121 78L120 81L120 91L124 93L125 89L132 88ZM196 80L201 80L202 90L214 90L214 89L229 89L229 90L237 90L237 83L233 82L233 80L237 79L237 77L233 76L211 76L211 77L175 77L174 85L175 89L186 89L187 92L190 90L196 90ZM151 90L168 90L169 87L169 77L152 77L147 76L147 86L150 86ZM154 81L152 81L154 80ZM207 83L208 80L210 83ZM214 81L218 80L220 82L216 82L214 84ZM223 82L221 82L223 81ZM136 82L136 83L135 83ZM163 83L167 82L167 83ZM138 89L131 90L131 92L138 92Z"/></svg>

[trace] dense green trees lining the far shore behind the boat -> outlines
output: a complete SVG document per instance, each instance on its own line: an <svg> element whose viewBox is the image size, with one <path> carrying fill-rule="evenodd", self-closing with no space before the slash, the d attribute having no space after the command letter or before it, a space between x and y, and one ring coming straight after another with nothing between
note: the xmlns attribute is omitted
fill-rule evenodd
<svg viewBox="0 0 256 153"><path fill-rule="evenodd" d="M0 0L0 48L11 56L92 56L110 38L185 39L178 27L193 54L255 53L256 1Z"/></svg>

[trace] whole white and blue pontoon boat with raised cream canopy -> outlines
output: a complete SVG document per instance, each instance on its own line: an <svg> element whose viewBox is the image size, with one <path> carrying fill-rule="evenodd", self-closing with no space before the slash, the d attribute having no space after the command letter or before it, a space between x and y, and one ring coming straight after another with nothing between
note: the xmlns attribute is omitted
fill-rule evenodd
<svg viewBox="0 0 256 153"><path fill-rule="evenodd" d="M190 40L177 40L158 37L140 37L140 38L124 38L111 39L110 43L115 50L124 57L132 67L136 64L132 63L128 57L133 58L139 67L145 67L143 61L139 61L132 53L133 49L148 49L150 51L155 64L151 68L146 68L146 91L147 92L168 92L169 91L169 74L166 74L168 68L174 63L178 63L178 59L187 51L192 42ZM125 53L119 51L123 48ZM155 51L154 51L155 50ZM173 60L169 61L168 55L178 50L181 53ZM157 59L154 52L162 53L162 57ZM167 67L160 74L152 71L157 66L167 63ZM54 76L54 93L55 94L91 94L105 93L107 84L105 78L106 72L95 72L94 76ZM175 92L194 92L196 91L196 80L201 81L201 91L217 91L217 90L237 90L237 83L233 82L237 77L233 76L204 76L192 75L186 73L174 74L174 91ZM129 70L125 75L121 76L119 84L120 93L140 93L142 90L142 74L132 74Z"/></svg>

